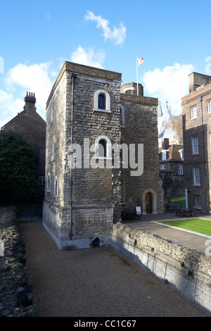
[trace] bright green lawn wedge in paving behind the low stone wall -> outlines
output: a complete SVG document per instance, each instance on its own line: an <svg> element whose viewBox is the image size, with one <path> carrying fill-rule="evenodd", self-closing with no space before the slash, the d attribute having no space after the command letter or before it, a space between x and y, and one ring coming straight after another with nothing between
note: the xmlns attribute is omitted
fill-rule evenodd
<svg viewBox="0 0 211 331"><path fill-rule="evenodd" d="M186 220L165 220L162 223L211 236L211 220L187 218Z"/></svg>

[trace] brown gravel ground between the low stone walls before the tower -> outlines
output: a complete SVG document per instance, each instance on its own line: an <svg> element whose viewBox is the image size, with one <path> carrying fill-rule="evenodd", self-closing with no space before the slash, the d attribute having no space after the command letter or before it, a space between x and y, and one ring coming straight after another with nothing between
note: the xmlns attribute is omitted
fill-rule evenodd
<svg viewBox="0 0 211 331"><path fill-rule="evenodd" d="M204 316L113 248L59 251L41 222L21 222L39 316Z"/></svg>

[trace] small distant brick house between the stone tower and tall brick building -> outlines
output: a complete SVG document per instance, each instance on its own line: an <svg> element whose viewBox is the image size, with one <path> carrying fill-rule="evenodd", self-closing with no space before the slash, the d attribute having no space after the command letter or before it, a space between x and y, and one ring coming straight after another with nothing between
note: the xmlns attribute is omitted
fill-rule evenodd
<svg viewBox="0 0 211 331"><path fill-rule="evenodd" d="M162 139L159 148L159 168L162 187L166 198L184 196L184 148L171 144L168 138Z"/></svg>

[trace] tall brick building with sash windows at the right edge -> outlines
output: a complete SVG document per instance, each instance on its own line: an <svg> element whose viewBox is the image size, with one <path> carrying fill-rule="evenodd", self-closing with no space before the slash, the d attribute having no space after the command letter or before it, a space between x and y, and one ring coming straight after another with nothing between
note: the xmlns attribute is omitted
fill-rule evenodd
<svg viewBox="0 0 211 331"><path fill-rule="evenodd" d="M189 94L181 99L184 174L189 208L210 214L211 77L189 75Z"/></svg>

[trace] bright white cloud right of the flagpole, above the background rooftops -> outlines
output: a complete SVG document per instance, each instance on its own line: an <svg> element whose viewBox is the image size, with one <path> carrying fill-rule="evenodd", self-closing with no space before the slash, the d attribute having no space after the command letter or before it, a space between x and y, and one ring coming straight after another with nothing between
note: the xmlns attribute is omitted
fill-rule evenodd
<svg viewBox="0 0 211 331"><path fill-rule="evenodd" d="M159 99L162 108L168 101L173 115L181 113L181 98L188 94L188 75L194 70L192 64L174 63L163 69L155 68L143 75L146 93Z"/></svg>

